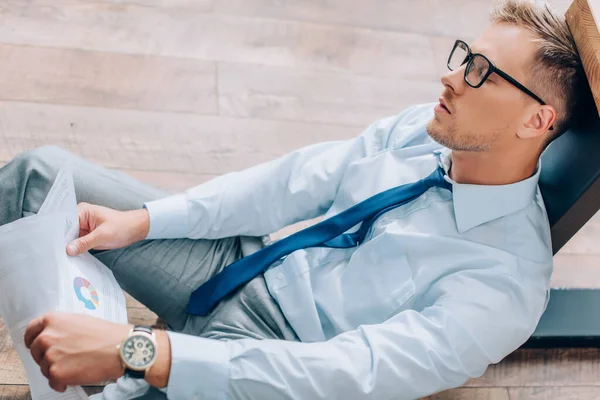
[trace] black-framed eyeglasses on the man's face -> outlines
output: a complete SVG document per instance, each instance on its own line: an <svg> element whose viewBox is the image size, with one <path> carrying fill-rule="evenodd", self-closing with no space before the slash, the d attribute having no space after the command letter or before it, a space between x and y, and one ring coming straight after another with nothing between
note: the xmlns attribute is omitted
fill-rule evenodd
<svg viewBox="0 0 600 400"><path fill-rule="evenodd" d="M450 71L455 71L465 63L467 64L467 68L465 69L465 82L472 88L477 89L478 87L481 87L491 74L496 73L517 89L534 98L541 105L546 105L546 103L531 90L521 85L506 72L496 68L486 56L480 53L473 54L468 44L462 40L457 40L454 42L450 57L448 57L448 69ZM550 130L552 130L552 127L550 127Z"/></svg>

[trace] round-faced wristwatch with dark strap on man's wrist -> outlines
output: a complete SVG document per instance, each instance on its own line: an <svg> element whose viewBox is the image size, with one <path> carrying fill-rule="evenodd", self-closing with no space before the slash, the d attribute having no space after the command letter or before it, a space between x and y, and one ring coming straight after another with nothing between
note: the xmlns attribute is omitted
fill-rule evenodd
<svg viewBox="0 0 600 400"><path fill-rule="evenodd" d="M117 349L125 366L125 376L144 379L146 371L156 361L156 334L149 326L136 325Z"/></svg>

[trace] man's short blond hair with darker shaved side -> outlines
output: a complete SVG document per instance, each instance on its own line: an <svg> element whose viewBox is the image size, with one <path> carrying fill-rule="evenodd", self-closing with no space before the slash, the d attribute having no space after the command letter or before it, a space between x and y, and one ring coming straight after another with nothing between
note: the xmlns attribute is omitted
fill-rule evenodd
<svg viewBox="0 0 600 400"><path fill-rule="evenodd" d="M580 120L592 100L575 40L564 16L545 1L503 0L490 13L492 23L515 24L536 37L538 49L530 67L529 89L557 111L549 141ZM549 142L548 141L548 142Z"/></svg>

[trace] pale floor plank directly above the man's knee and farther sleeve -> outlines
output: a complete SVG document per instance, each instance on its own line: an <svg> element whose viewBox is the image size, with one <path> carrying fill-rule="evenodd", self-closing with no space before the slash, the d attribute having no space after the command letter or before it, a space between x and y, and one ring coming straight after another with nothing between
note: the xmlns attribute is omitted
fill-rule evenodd
<svg viewBox="0 0 600 400"><path fill-rule="evenodd" d="M0 102L0 162L45 144L109 168L220 175L361 128Z"/></svg>

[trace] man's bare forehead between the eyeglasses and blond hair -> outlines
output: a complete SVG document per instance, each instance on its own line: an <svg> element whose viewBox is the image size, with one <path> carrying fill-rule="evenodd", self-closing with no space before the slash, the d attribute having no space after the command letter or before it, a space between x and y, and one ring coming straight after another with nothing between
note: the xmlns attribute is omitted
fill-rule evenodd
<svg viewBox="0 0 600 400"><path fill-rule="evenodd" d="M527 76L527 70L535 51L532 34L516 25L494 24L470 43L473 53L481 53L495 66L514 75Z"/></svg>

